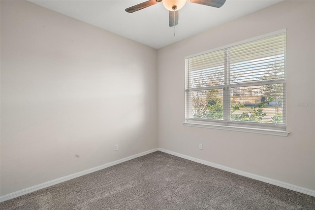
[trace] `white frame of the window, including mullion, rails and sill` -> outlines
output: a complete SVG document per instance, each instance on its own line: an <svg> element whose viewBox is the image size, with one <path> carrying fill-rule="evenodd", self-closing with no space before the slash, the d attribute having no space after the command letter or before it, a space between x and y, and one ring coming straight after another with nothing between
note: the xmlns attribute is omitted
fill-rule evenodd
<svg viewBox="0 0 315 210"><path fill-rule="evenodd" d="M286 29L279 30L276 32L268 33L265 35L260 35L256 37L252 37L243 41L239 41L236 43L232 43L229 45L225 45L219 48L211 49L205 52L197 53L194 55L186 56L185 57L185 126L193 126L193 127L203 127L203 128L212 128L212 129L221 129L221 130L231 130L231 131L242 131L242 132L249 132L249 133L259 133L259 134L268 134L268 135L276 135L276 136L288 136L289 132L286 131L286 76L284 79L280 80L272 80L272 81L252 81L248 82L246 84L228 84L227 81L229 80L229 59L224 58L224 85L216 85L213 87L207 87L206 89L223 89L222 91L224 92L223 95L225 96L223 99L223 119L222 120L217 120L217 119L207 119L207 118L186 118L186 116L189 116L189 109L187 108L189 106L189 90L186 90L186 82L187 82L187 60L201 56L204 54L212 53L215 51L220 51L224 50L225 56L229 53L229 49L231 47L245 44L248 42L252 41L257 41L259 39L267 38L269 36L274 36L274 35L280 35L286 33ZM286 56L285 56L286 57ZM286 59L284 61L285 66L286 66ZM286 69L284 69L284 75L286 74ZM259 122L246 122L246 121L231 121L230 120L230 101L231 101L231 96L230 96L230 88L234 87L250 87L250 86L258 86L258 85L267 85L267 84L283 84L283 95L284 95L284 100L283 100L283 124L276 124L276 123L259 123ZM196 88L195 88L196 89ZM200 88L200 90L205 90L205 88ZM228 97L226 97L228 96Z"/></svg>

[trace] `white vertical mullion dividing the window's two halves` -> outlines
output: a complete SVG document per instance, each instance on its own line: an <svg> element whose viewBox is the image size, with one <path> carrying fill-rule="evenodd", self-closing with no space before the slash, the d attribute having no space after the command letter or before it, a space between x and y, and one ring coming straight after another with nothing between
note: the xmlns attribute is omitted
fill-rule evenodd
<svg viewBox="0 0 315 210"><path fill-rule="evenodd" d="M225 49L224 59L224 88L223 88L223 120L230 120L230 50Z"/></svg>

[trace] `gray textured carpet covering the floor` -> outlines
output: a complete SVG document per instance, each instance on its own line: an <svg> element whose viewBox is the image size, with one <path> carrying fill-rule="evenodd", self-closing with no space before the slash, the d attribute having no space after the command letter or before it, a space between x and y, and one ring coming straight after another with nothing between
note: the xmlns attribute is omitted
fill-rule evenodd
<svg viewBox="0 0 315 210"><path fill-rule="evenodd" d="M154 152L0 204L2 210L315 210L315 197Z"/></svg>

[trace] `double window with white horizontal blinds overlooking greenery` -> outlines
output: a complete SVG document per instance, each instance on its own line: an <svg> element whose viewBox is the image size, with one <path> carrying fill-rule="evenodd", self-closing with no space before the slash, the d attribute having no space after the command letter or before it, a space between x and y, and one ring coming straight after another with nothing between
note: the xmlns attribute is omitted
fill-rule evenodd
<svg viewBox="0 0 315 210"><path fill-rule="evenodd" d="M187 57L186 123L285 131L285 48L281 31Z"/></svg>

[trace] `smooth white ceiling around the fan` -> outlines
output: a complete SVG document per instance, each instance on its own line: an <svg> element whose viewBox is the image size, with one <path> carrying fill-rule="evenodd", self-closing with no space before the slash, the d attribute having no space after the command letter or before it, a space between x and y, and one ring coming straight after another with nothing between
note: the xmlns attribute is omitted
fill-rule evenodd
<svg viewBox="0 0 315 210"><path fill-rule="evenodd" d="M221 8L187 2L179 10L175 36L162 2L127 13L127 7L146 0L29 1L158 49L282 0L226 0Z"/></svg>

